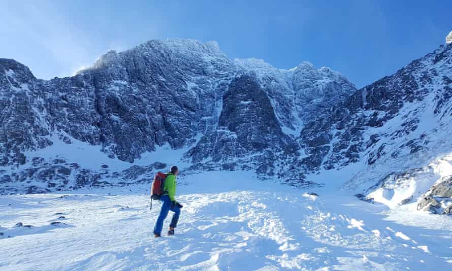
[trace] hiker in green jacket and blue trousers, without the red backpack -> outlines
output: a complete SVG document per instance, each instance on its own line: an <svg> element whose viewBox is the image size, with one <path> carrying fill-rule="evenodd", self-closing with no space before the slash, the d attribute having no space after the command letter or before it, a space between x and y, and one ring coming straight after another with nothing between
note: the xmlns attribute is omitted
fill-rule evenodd
<svg viewBox="0 0 452 271"><path fill-rule="evenodd" d="M171 219L170 229L168 230L168 235L174 235L174 228L177 226L179 220L180 209L182 205L176 201L174 196L176 195L176 178L179 175L179 169L177 166L173 165L171 171L167 174L164 184L164 193L160 197L160 201L163 202L162 209L160 209L160 214L158 215L157 222L154 227L154 237L162 236L163 222L168 216L168 212L171 210L174 212L173 219Z"/></svg>

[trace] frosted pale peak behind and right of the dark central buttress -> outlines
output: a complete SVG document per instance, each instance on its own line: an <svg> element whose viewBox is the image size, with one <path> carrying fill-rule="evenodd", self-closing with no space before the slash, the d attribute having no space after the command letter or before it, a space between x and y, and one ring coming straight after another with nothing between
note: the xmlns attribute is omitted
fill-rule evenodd
<svg viewBox="0 0 452 271"><path fill-rule="evenodd" d="M260 59L236 59L241 73L252 72L269 96L279 122L288 134L298 137L317 112L344 101L356 88L327 67L315 69L303 61L294 69L275 69Z"/></svg>

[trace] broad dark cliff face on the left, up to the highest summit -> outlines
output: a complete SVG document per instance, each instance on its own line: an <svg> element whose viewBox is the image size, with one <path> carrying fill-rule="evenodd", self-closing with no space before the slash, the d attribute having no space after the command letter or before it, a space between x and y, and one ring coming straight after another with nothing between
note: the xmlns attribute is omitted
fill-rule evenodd
<svg viewBox="0 0 452 271"><path fill-rule="evenodd" d="M45 147L48 139L35 142L36 136L53 132L101 145L110 157L129 162L166 142L181 148L195 136L193 126L211 116L215 92L225 91L233 68L217 47L188 41L111 51L75 77L51 81L36 80L12 60L2 63L7 63L2 91L12 98L3 96L11 114L4 118L4 130L23 136L5 139L12 146L2 152L4 166L23 164L21 151ZM27 126L10 126L25 117Z"/></svg>

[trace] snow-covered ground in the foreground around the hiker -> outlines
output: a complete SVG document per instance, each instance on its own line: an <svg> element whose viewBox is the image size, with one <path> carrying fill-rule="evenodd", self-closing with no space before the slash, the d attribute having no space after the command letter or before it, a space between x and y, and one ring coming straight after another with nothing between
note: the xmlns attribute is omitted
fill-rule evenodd
<svg viewBox="0 0 452 271"><path fill-rule="evenodd" d="M247 172L179 183L184 208L176 235L160 239L152 234L160 206L149 210L147 186L2 196L0 269L452 269L447 216L327 190L309 196Z"/></svg>

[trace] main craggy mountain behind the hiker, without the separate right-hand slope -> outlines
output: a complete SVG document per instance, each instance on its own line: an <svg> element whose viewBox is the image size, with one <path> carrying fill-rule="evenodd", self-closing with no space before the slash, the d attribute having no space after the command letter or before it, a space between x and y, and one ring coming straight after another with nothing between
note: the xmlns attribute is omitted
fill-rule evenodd
<svg viewBox="0 0 452 271"><path fill-rule="evenodd" d="M279 70L168 40L50 81L0 59L0 91L0 192L36 193L149 182L168 163L271 177L276 156L298 156L305 123L356 88L308 62Z"/></svg>

